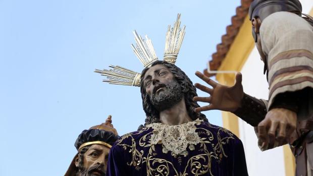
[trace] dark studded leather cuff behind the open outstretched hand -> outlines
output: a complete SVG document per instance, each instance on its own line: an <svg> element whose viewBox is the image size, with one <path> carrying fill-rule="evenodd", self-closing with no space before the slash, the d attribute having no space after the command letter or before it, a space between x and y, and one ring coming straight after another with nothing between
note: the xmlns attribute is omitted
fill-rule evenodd
<svg viewBox="0 0 313 176"><path fill-rule="evenodd" d="M233 113L246 123L256 127L264 120L267 108L262 100L244 93L241 106Z"/></svg>

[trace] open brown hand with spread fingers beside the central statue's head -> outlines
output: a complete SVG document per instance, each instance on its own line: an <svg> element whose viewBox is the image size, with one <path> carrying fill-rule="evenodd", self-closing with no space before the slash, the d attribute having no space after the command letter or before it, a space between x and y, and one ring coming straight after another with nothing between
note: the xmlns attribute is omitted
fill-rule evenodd
<svg viewBox="0 0 313 176"><path fill-rule="evenodd" d="M196 83L194 86L211 96L209 97L198 97L193 98L194 101L201 101L210 103L202 107L195 108L196 112L219 109L224 111L235 111L241 105L241 100L243 98L243 89L242 89L242 76L240 73L236 75L236 83L234 86L224 86L221 85L207 76L203 75L200 72L196 72L195 75L206 82L212 88L208 88L199 83Z"/></svg>

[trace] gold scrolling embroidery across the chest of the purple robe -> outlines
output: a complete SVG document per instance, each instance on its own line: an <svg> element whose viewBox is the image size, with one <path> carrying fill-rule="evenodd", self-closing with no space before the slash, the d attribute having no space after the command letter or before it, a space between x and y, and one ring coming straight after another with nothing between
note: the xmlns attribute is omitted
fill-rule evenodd
<svg viewBox="0 0 313 176"><path fill-rule="evenodd" d="M183 169L176 168L175 163L172 163L164 158L157 157L158 153L155 150L155 146L159 144L162 145L162 143L156 142L155 144L155 140L159 138L156 138L158 135L155 135L155 132L150 130L152 128L151 126L143 128L138 132L129 133L122 136L117 141L116 145L122 146L125 151L131 154L131 161L127 162L127 165L134 167L136 170L140 170L142 167L146 167L146 175L166 176L169 175L170 172L174 172L175 176L189 176L188 173L192 173L193 175L213 175L211 170L212 160L216 160L218 163L220 163L223 157L228 157L227 153L225 153L224 145L228 144L230 140L235 139L234 135L224 128L212 126L211 124L202 121L194 121L194 123L191 124L196 130L196 136L201 136L202 138L199 137L199 140L196 141L196 144L190 144L189 141L189 147L187 146L186 150L184 150L186 152L182 152L177 155L174 154L173 151L171 153L172 156L177 159L177 163L181 165L181 157L185 158L189 156L187 150L195 150L195 148L190 146L195 147L194 145L199 145L197 150L200 154L190 157L187 163L184 164ZM199 124L205 125L205 128L202 128L203 126L201 126L201 128L195 126ZM215 132L213 133L208 129L214 129ZM139 140L138 138L135 140L134 135L140 134L144 135L141 135ZM154 139L152 139L152 137ZM124 142L126 139L131 139L131 144L125 144ZM143 150L139 151L139 148L144 149L146 152ZM162 152L166 153L166 151L164 151L164 145L162 145L162 148Z"/></svg>

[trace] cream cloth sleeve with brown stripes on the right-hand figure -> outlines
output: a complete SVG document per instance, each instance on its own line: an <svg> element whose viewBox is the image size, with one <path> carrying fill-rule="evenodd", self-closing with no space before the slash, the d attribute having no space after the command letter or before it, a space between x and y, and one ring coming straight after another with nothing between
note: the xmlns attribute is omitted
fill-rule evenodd
<svg viewBox="0 0 313 176"><path fill-rule="evenodd" d="M289 12L268 16L260 27L268 55L269 105L286 91L313 88L313 27Z"/></svg>

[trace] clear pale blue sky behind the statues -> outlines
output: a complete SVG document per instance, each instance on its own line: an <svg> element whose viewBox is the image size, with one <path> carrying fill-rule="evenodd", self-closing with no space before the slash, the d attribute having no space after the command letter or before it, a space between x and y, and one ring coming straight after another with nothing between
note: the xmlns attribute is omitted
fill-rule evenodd
<svg viewBox="0 0 313 176"><path fill-rule="evenodd" d="M119 135L144 123L138 87L109 85L94 69L141 72L133 30L163 57L181 13L186 34L176 65L195 83L240 1L0 0L0 175L64 175L84 129L113 117ZM198 91L199 96L206 96ZM205 105L205 104L200 104ZM222 126L221 112L204 112Z"/></svg>

